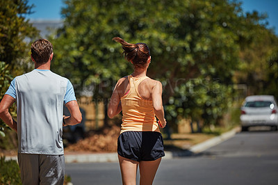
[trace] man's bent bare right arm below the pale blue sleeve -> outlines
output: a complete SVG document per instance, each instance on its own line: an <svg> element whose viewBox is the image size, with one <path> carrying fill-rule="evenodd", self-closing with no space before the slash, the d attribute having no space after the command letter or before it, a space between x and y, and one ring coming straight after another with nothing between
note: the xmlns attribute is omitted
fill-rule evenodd
<svg viewBox="0 0 278 185"><path fill-rule="evenodd" d="M67 102L65 106L69 109L70 116L65 116L65 118L63 118L65 122L65 124L63 122L63 126L79 124L82 121L82 114L76 100Z"/></svg>

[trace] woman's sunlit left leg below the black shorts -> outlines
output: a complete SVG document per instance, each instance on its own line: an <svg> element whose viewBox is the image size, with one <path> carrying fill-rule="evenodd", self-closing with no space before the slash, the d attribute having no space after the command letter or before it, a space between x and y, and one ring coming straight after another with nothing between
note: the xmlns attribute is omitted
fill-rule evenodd
<svg viewBox="0 0 278 185"><path fill-rule="evenodd" d="M126 159L120 155L119 158L121 173L122 173L122 184L124 185L136 185L136 173L138 168L138 161Z"/></svg>

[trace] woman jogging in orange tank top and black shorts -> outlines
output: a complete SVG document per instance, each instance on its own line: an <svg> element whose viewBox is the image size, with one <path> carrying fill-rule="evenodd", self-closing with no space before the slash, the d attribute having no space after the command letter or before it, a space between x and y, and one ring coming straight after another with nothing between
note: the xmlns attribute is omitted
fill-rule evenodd
<svg viewBox="0 0 278 185"><path fill-rule="evenodd" d="M136 184L138 166L140 184L152 184L161 157L165 156L163 138L158 128L158 124L162 128L166 125L162 84L146 76L151 56L145 43L130 44L122 38L113 40L120 42L126 60L134 67L131 75L117 81L108 104L109 118L121 111L123 114L117 140L122 184Z"/></svg>

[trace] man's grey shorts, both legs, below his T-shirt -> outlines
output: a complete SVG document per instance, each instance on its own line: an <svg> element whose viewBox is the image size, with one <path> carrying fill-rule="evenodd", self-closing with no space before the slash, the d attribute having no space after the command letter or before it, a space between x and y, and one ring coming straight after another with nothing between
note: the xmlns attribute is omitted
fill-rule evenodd
<svg viewBox="0 0 278 185"><path fill-rule="evenodd" d="M64 155L18 154L22 184L63 184Z"/></svg>

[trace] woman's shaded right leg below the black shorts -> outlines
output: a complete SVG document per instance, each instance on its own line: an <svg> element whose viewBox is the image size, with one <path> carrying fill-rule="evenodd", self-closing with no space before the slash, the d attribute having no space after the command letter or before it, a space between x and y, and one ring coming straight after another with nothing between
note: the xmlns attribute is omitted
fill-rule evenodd
<svg viewBox="0 0 278 185"><path fill-rule="evenodd" d="M156 159L156 161L140 161L140 185L152 184L160 163L161 158Z"/></svg>

